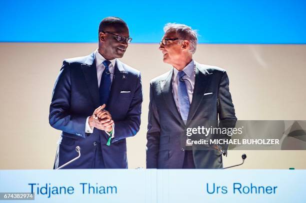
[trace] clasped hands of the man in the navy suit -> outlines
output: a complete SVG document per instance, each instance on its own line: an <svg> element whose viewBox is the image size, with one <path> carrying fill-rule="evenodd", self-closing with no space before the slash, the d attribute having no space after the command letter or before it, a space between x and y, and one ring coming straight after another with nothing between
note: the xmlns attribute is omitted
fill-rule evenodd
<svg viewBox="0 0 306 203"><path fill-rule="evenodd" d="M88 124L90 126L90 128L94 127L97 128L99 130L104 130L104 131L111 131L112 129L112 124L113 124L113 120L111 119L110 116L108 116L108 118L106 119L99 119L97 117L97 114L101 111L103 111L105 108L105 104L99 106L98 108L96 108L93 112L93 114L89 117L88 119Z"/></svg>

